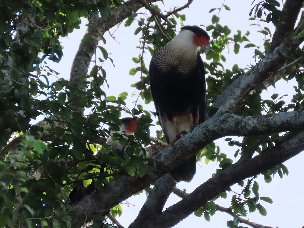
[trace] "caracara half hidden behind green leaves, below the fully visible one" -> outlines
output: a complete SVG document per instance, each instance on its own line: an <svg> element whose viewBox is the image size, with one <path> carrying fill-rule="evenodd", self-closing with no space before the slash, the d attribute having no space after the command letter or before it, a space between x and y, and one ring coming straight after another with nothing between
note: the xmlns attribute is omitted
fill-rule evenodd
<svg viewBox="0 0 304 228"><path fill-rule="evenodd" d="M126 137L123 135L124 133L126 135L134 135L135 130L137 128L136 119L132 117L125 117L120 119L123 123L120 125L120 129L118 131L112 131L109 132L109 138L107 139L107 144L109 145L110 150L116 150L116 153L118 156L123 157L123 155L126 153L126 147L124 147L122 144L119 143L118 140L112 140L113 133L122 134L123 137ZM97 156L98 157L98 154ZM99 164L98 159L90 161L92 164ZM100 164L101 168L99 168L101 171L104 170L105 164ZM94 165L88 165L86 168L82 169L78 176L83 173L90 170L93 170L93 168L96 168ZM69 201L71 204L74 204L81 199L83 199L86 195L90 195L92 192L96 190L94 187L94 180L90 185L88 185L86 188L83 186L83 181L77 179L74 182L75 187L72 189L70 195L68 196Z"/></svg>

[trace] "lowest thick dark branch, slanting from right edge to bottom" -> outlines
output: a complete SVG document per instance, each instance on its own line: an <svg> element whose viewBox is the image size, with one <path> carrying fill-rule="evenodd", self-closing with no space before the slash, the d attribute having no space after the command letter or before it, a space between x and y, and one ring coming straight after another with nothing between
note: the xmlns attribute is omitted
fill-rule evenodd
<svg viewBox="0 0 304 228"><path fill-rule="evenodd" d="M146 218L140 227L171 227L184 219L194 210L199 209L220 192L231 185L250 176L260 174L274 166L281 164L289 158L299 154L304 149L304 132L283 143L282 146L273 147L247 161L238 161L231 167L224 169L216 176L196 188L184 199L162 212L157 220ZM130 226L131 228L131 226Z"/></svg>

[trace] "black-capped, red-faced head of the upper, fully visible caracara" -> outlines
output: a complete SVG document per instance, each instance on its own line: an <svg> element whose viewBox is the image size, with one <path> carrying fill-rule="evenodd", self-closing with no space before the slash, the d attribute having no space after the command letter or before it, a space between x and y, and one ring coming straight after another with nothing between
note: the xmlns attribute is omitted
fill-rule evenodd
<svg viewBox="0 0 304 228"><path fill-rule="evenodd" d="M184 26L181 28L180 34L185 34L183 36L190 36L190 39L192 39L192 43L195 45L202 47L202 49L205 51L205 53L208 53L210 50L210 37L208 33L198 27L198 26Z"/></svg>

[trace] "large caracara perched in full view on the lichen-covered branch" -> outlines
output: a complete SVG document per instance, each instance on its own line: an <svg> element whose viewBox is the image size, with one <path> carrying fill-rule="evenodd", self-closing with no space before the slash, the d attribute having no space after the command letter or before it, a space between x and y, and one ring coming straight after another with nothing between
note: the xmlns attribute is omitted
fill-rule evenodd
<svg viewBox="0 0 304 228"><path fill-rule="evenodd" d="M168 143L174 143L205 120L206 78L199 48L207 53L209 40L204 29L184 26L173 40L152 56L150 89ZM175 182L189 182L195 171L193 155L170 174Z"/></svg>

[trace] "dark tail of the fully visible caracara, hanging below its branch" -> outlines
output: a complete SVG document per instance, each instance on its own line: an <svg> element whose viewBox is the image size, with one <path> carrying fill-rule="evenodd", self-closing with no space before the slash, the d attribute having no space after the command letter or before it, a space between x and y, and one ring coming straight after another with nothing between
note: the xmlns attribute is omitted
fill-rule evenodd
<svg viewBox="0 0 304 228"><path fill-rule="evenodd" d="M181 163L170 172L172 179L178 183L180 181L190 182L196 171L195 154Z"/></svg>

